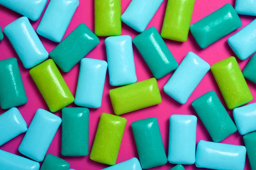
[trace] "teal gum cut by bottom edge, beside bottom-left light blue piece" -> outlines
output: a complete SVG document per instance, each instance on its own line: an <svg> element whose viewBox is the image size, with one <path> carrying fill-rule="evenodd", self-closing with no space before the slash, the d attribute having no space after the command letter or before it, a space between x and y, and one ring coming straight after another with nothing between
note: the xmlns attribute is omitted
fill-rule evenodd
<svg viewBox="0 0 256 170"><path fill-rule="evenodd" d="M45 156L40 170L69 170L70 163L52 154Z"/></svg>

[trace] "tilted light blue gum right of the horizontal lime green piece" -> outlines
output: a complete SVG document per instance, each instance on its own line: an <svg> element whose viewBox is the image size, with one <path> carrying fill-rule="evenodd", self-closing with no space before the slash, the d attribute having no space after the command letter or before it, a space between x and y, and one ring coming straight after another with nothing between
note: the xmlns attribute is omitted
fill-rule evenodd
<svg viewBox="0 0 256 170"><path fill-rule="evenodd" d="M163 90L177 102L185 104L209 69L210 65L207 62L195 53L189 52L163 86Z"/></svg>

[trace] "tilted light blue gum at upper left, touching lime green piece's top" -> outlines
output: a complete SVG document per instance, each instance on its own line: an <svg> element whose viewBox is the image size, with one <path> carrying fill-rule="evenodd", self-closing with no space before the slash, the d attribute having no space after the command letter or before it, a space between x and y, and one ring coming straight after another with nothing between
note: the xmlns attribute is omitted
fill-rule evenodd
<svg viewBox="0 0 256 170"><path fill-rule="evenodd" d="M32 68L48 58L48 52L27 17L21 17L3 29L25 68Z"/></svg>

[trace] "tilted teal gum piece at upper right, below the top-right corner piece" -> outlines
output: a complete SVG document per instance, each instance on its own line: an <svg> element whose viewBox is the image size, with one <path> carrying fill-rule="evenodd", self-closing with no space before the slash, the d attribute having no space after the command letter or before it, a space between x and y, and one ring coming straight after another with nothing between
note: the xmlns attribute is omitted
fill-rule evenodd
<svg viewBox="0 0 256 170"><path fill-rule="evenodd" d="M207 48L241 26L241 20L235 9L227 3L190 26L190 31L198 45L201 48Z"/></svg>

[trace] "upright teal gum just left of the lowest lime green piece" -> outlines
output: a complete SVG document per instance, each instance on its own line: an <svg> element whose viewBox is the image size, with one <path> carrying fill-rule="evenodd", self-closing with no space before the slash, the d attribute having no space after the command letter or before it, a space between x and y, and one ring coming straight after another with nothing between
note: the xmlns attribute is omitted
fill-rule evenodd
<svg viewBox="0 0 256 170"><path fill-rule="evenodd" d="M61 154L87 156L89 154L89 109L62 109Z"/></svg>

